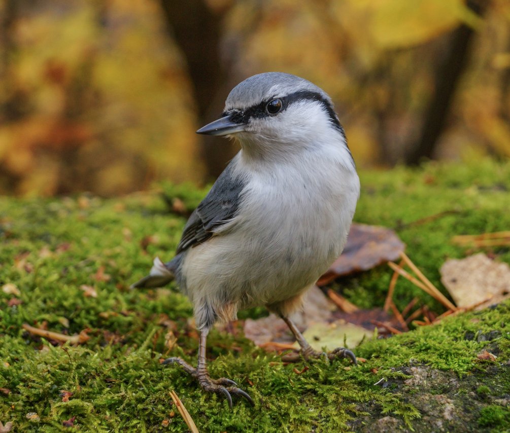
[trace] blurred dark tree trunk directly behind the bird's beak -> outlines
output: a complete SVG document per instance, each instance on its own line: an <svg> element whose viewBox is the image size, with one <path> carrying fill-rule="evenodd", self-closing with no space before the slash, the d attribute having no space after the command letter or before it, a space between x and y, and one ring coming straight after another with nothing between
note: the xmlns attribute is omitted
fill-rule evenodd
<svg viewBox="0 0 510 433"><path fill-rule="evenodd" d="M226 97L227 71L220 58L221 22L205 0L161 0L168 29L188 65L199 126L215 120ZM201 143L206 180L216 178L234 156L224 138L204 137Z"/></svg>

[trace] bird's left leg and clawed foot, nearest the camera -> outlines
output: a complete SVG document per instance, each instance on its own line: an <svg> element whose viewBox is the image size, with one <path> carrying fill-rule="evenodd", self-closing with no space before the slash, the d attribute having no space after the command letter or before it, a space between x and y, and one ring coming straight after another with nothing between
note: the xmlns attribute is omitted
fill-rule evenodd
<svg viewBox="0 0 510 433"><path fill-rule="evenodd" d="M208 329L200 332L200 339L198 342L198 365L196 368L194 368L193 366L188 364L184 359L179 357L168 358L165 361L163 361L163 364L180 364L187 373L191 374L198 380L200 387L204 391L223 394L228 400L228 406L230 408L232 408L231 394L240 395L246 398L246 400L248 400L251 404L254 404L251 397L242 389L237 388L237 384L234 381L227 379L226 377L212 379L209 376L206 361L206 341L208 333L209 333Z"/></svg>

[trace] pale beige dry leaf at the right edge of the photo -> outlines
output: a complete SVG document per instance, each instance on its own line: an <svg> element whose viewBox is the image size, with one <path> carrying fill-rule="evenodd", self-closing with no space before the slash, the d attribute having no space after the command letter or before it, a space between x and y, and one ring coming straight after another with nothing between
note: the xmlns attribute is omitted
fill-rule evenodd
<svg viewBox="0 0 510 433"><path fill-rule="evenodd" d="M458 307L479 304L476 309L480 310L510 298L510 266L483 253L461 260L449 259L440 272L441 282Z"/></svg>

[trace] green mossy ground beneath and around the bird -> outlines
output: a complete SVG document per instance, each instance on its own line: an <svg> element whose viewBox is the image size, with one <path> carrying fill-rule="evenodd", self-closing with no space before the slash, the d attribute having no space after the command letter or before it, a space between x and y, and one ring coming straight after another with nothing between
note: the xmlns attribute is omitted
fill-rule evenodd
<svg viewBox="0 0 510 433"><path fill-rule="evenodd" d="M440 287L444 260L467 253L452 245L452 235L510 228L510 163L428 164L419 170L362 172L361 179L355 220L395 228L407 254ZM164 189L190 207L205 193ZM420 221L430 215L437 218ZM169 355L168 327L177 336L171 354L195 361L190 303L168 289L128 288L147 273L154 256L171 257L184 223L168 213L159 193L109 200L0 198L0 286L12 283L20 291L19 296L0 291L0 388L6 390L0 392L0 421L13 421L16 431L68 430L62 422L73 416L82 431L187 431L178 414L169 417L175 407L168 392L174 389L201 431L374 431L377 425L384 429L377 424L381 418L430 431L427 416L433 410L427 415L427 407L433 404L424 403L420 389L425 389L458 409L457 418L442 419L446 429L509 428L508 303L366 341L356 348L356 355L367 359L358 368L316 360L300 375L293 368L301 370L304 362L284 366L239 333L214 331L208 346L211 374L233 378L256 407L237 400L229 410L224 398L203 394L179 366L159 362ZM510 263L508 247L490 251ZM381 266L335 286L351 302L370 308L384 303L390 277L391 270ZM82 285L94 287L97 297L85 296ZM399 280L397 306L414 296L443 311ZM22 303L10 302L13 297ZM258 314L260 309L243 317ZM53 345L23 331L23 323L45 323L48 330L69 334L89 329L91 338L79 346ZM491 341L466 338L491 331L498 331ZM478 360L483 348L497 360ZM431 389L406 382L416 366L443 372L458 386L441 376L430 382ZM388 386L374 385L382 377ZM62 401L61 390L73 393L69 401ZM455 400L463 395L470 402L469 417ZM38 421L26 417L31 412ZM168 426L162 425L165 419Z"/></svg>

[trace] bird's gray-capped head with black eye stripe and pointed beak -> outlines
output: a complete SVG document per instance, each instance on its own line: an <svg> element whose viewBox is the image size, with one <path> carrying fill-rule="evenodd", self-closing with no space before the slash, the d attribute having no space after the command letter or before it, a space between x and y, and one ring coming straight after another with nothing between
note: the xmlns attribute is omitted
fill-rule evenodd
<svg viewBox="0 0 510 433"><path fill-rule="evenodd" d="M253 157L346 146L333 102L319 87L282 72L253 75L228 95L220 119L197 133L231 136Z"/></svg>

